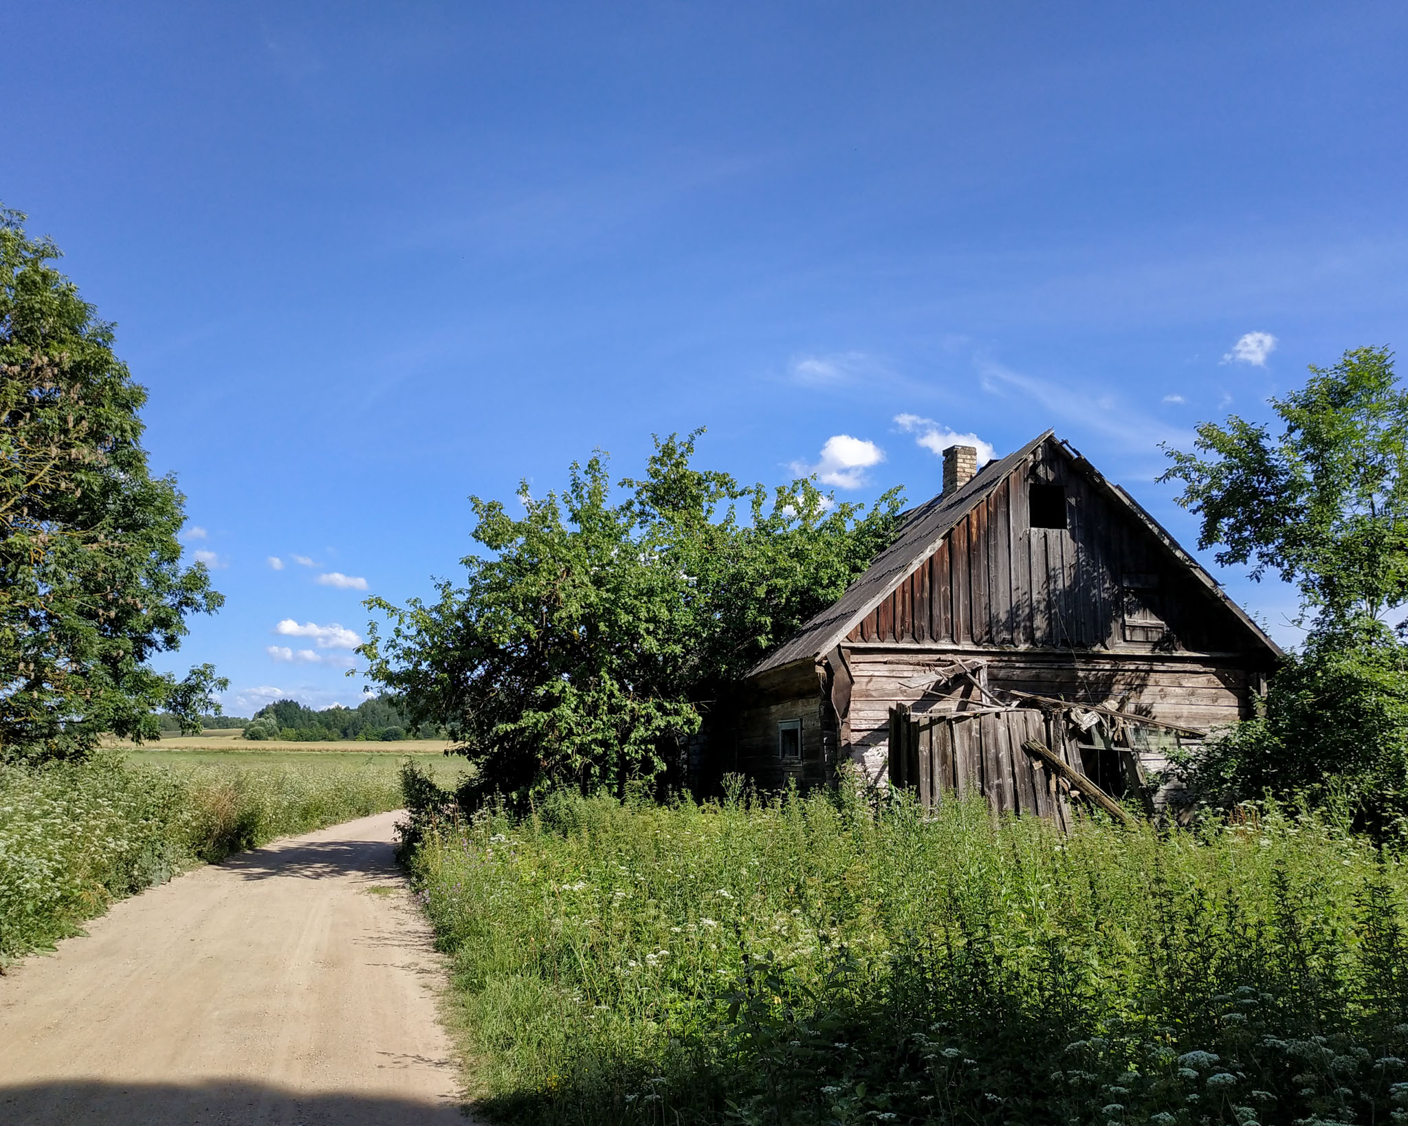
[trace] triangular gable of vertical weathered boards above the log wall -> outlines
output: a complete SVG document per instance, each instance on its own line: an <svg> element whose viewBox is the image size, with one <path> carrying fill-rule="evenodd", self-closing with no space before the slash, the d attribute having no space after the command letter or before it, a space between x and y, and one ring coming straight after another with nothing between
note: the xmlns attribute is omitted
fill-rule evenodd
<svg viewBox="0 0 1408 1126"><path fill-rule="evenodd" d="M1066 491L1066 528L1032 528L1031 483ZM848 635L1145 652L1246 650L1245 628L1053 443L1038 446Z"/></svg>

